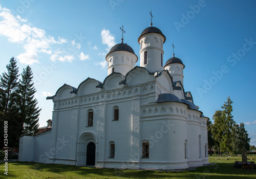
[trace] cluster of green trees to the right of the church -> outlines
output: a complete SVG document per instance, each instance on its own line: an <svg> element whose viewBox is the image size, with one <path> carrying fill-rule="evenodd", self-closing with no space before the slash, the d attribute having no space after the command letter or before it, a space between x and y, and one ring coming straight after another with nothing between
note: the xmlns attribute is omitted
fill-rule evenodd
<svg viewBox="0 0 256 179"><path fill-rule="evenodd" d="M221 107L222 110L215 112L212 120L208 119L208 147L218 150L221 156L222 152L232 154L242 154L243 146L246 150L250 149L250 138L245 130L244 123L237 124L231 115L233 101L228 96L227 101Z"/></svg>

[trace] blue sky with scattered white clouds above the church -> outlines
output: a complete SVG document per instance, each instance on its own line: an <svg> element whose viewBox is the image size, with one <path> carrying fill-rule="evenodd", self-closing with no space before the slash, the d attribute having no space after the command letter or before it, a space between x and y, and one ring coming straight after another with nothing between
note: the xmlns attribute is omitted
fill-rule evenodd
<svg viewBox="0 0 256 179"><path fill-rule="evenodd" d="M88 77L104 81L105 55L121 42L139 57L140 33L153 26L166 36L164 63L175 56L185 64L184 88L212 118L227 97L233 116L244 122L256 145L256 2L248 1L3 1L0 0L0 73L11 57L19 71L34 73L40 126L52 118L54 95L64 83L74 87ZM139 60L136 63L139 64Z"/></svg>

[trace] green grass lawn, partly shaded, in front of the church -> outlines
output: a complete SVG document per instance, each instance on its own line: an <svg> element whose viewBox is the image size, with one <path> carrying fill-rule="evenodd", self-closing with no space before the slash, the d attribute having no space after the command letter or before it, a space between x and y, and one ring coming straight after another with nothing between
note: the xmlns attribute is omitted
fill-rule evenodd
<svg viewBox="0 0 256 179"><path fill-rule="evenodd" d="M253 161L256 161L256 156L247 156L247 158L253 158ZM241 161L242 159L241 157L209 157L209 162L216 163L216 165L178 172L99 169L70 165L9 162L8 175L4 175L4 163L0 164L0 178L256 178L256 169L233 168L235 160Z"/></svg>

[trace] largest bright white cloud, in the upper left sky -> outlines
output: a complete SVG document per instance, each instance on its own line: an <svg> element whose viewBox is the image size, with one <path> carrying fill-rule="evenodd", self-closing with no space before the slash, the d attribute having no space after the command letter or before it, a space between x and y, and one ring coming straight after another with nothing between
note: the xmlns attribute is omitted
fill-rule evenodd
<svg viewBox="0 0 256 179"><path fill-rule="evenodd" d="M25 52L17 56L20 63L29 65L39 63L38 53L51 55L53 44L61 45L68 42L67 39L61 37L55 40L54 37L47 35L44 30L33 27L27 19L23 19L19 15L14 16L9 9L1 6L0 17L0 36L7 37L10 42L23 44ZM79 43L74 42L74 44L76 49L80 49L81 45ZM68 53L66 52L66 54ZM50 59L71 62L74 57L69 54L59 57L58 54L54 53Z"/></svg>

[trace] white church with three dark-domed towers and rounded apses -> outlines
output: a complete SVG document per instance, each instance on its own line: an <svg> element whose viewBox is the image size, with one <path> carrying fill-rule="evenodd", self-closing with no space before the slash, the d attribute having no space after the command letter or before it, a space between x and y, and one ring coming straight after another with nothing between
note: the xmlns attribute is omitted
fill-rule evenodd
<svg viewBox="0 0 256 179"><path fill-rule="evenodd" d="M52 129L19 138L19 161L99 168L183 169L208 162L207 117L183 88L185 65L163 64L166 38L156 27L106 55L108 76L54 96Z"/></svg>

